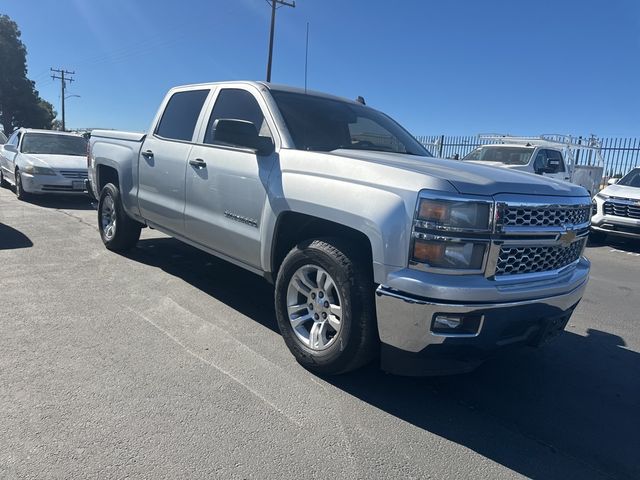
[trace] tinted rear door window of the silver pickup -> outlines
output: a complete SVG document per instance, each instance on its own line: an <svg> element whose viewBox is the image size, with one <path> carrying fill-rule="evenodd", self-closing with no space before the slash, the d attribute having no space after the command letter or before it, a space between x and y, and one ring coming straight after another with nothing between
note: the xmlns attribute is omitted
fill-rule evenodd
<svg viewBox="0 0 640 480"><path fill-rule="evenodd" d="M156 135L190 142L209 90L174 93L164 109Z"/></svg>

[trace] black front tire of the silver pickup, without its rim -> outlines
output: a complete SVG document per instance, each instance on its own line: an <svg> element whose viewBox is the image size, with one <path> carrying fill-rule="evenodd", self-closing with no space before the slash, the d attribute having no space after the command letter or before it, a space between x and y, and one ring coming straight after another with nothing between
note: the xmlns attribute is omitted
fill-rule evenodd
<svg viewBox="0 0 640 480"><path fill-rule="evenodd" d="M361 250L339 239L308 240L289 252L278 272L275 308L280 332L296 360L314 373L334 375L355 370L369 363L378 351L375 287L370 262ZM293 275L310 265L332 277L342 302L338 338L324 350L311 349L298 338L287 309Z"/></svg>

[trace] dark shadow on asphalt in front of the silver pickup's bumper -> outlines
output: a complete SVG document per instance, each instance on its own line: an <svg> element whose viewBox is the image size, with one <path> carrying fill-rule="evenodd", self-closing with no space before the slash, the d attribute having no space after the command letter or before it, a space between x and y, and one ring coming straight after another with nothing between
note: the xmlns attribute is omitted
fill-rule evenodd
<svg viewBox="0 0 640 480"><path fill-rule="evenodd" d="M563 332L541 349L505 352L461 376L403 378L372 366L325 380L530 478L566 478L549 456L582 463L594 476L640 478L640 354L606 332ZM514 435L546 455L523 455Z"/></svg>

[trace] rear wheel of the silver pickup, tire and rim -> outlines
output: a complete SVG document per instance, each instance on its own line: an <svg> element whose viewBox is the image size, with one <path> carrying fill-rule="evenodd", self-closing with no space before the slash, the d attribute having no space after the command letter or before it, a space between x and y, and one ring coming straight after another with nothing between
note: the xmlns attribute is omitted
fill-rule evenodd
<svg viewBox="0 0 640 480"><path fill-rule="evenodd" d="M111 225L112 218L115 221ZM141 229L142 225L124 211L118 187L107 183L100 192L98 202L98 230L104 246L114 252L131 250L140 239Z"/></svg>

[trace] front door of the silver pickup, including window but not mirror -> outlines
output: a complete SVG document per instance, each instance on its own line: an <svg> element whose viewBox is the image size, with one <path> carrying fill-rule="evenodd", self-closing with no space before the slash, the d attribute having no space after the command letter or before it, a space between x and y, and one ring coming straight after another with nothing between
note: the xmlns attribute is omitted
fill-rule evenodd
<svg viewBox="0 0 640 480"><path fill-rule="evenodd" d="M261 217L276 153L255 151L213 139L217 119L250 121L274 141L275 124L257 89L225 87L213 99L206 128L189 155L185 225L187 236L228 257L260 266Z"/></svg>

